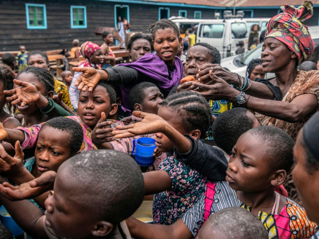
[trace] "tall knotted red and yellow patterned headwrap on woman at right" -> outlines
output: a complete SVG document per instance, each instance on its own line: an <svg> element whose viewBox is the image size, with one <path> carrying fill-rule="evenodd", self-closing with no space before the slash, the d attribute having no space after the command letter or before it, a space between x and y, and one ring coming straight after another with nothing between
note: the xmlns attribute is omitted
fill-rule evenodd
<svg viewBox="0 0 319 239"><path fill-rule="evenodd" d="M274 37L285 43L288 48L296 53L299 64L308 59L315 50L315 42L311 38L308 27L303 22L314 14L313 3L304 1L296 8L285 4L284 11L268 22L265 38Z"/></svg>

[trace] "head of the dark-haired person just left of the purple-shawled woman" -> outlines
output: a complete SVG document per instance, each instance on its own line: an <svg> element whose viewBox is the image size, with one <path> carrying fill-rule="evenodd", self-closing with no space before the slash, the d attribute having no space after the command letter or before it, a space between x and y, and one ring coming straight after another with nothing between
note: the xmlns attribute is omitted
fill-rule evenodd
<svg viewBox="0 0 319 239"><path fill-rule="evenodd" d="M126 45L126 49L130 52L131 61L136 62L147 53L154 51L152 45L152 37L143 33L134 34L129 43Z"/></svg>

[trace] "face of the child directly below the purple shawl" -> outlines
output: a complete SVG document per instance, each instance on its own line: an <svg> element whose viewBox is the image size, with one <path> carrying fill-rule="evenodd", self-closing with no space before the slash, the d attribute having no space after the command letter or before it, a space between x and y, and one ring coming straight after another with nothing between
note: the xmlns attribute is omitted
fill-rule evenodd
<svg viewBox="0 0 319 239"><path fill-rule="evenodd" d="M164 96L160 93L157 87L150 87L144 90L145 98L141 105L140 111L150 114L158 114L160 103L163 101Z"/></svg>

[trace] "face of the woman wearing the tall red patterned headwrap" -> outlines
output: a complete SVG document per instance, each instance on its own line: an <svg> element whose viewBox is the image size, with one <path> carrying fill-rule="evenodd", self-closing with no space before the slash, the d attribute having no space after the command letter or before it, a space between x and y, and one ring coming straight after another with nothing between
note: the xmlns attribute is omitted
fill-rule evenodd
<svg viewBox="0 0 319 239"><path fill-rule="evenodd" d="M289 50L288 46L274 37L264 40L261 60L265 73L277 73L287 69L288 65L296 67L297 55Z"/></svg>

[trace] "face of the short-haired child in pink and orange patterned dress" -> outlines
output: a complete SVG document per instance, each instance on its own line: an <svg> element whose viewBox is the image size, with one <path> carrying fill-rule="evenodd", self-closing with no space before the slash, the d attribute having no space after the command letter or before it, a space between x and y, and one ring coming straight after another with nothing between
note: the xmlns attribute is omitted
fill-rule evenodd
<svg viewBox="0 0 319 239"><path fill-rule="evenodd" d="M271 186L273 169L264 140L246 132L232 150L226 181L235 191L259 192Z"/></svg>

